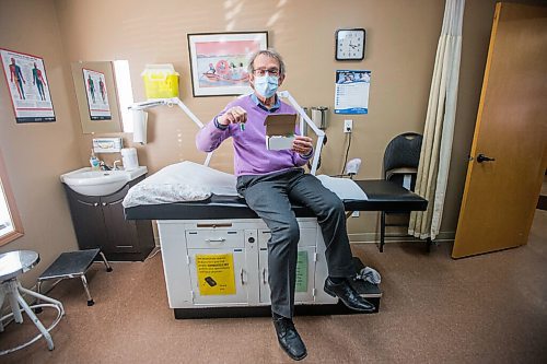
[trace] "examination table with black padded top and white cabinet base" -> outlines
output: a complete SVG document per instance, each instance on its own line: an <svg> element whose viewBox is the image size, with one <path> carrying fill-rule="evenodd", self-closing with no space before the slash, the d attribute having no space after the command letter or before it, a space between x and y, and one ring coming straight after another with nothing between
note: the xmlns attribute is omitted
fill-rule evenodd
<svg viewBox="0 0 547 364"><path fill-rule="evenodd" d="M428 201L386 180L356 180L368 200L344 200L346 211L424 211ZM323 291L325 247L313 213L293 206L301 240L296 269L296 315L348 314ZM203 201L135 206L127 220L156 220L170 307L176 318L268 316L266 224L236 196ZM364 265L353 258L356 272ZM380 287L353 282L380 307Z"/></svg>

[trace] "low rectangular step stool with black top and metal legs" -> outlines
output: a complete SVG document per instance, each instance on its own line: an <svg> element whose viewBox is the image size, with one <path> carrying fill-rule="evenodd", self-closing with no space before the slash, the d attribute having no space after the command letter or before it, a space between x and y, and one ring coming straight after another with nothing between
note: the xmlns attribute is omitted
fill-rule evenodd
<svg viewBox="0 0 547 364"><path fill-rule="evenodd" d="M38 277L38 293L40 292L42 283L44 281L57 279L57 281L51 286L53 289L63 279L80 277L83 283L83 289L85 290L85 294L88 295L88 306L93 306L95 303L91 297L88 280L85 279L85 273L93 263L93 260L95 260L98 255L101 255L101 258L106 266L106 271L112 272L112 268L108 265L106 257L98 248L62 253L51 263L51 266L49 266L46 271L42 273L40 277Z"/></svg>

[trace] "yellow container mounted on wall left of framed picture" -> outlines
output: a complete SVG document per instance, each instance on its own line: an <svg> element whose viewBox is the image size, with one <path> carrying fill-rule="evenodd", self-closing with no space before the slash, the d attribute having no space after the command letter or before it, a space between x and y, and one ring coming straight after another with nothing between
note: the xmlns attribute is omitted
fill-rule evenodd
<svg viewBox="0 0 547 364"><path fill-rule="evenodd" d="M147 64L141 75L147 98L178 97L178 73L173 64Z"/></svg>

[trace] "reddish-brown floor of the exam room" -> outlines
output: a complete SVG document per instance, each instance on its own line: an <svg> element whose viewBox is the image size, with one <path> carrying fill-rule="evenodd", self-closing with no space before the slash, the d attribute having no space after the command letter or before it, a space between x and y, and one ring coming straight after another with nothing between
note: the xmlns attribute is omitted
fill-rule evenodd
<svg viewBox="0 0 547 364"><path fill-rule="evenodd" d="M526 246L466 259L452 245L353 246L383 278L379 314L296 317L307 363L546 363L547 211L536 210ZM49 295L67 316L39 341L1 363L282 363L268 318L175 320L160 255L144 263L95 265L88 307L78 280ZM48 321L49 313L40 315ZM0 349L34 328L10 325Z"/></svg>

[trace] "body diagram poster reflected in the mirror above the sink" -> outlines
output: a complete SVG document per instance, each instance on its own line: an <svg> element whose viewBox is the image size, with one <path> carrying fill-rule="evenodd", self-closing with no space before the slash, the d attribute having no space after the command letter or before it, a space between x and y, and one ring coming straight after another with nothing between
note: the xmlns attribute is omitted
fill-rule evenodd
<svg viewBox="0 0 547 364"><path fill-rule="evenodd" d="M108 105L108 95L106 94L106 84L103 72L88 70L82 68L83 84L85 85L85 95L88 96L88 108L91 120L112 120L110 106Z"/></svg>

